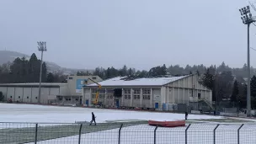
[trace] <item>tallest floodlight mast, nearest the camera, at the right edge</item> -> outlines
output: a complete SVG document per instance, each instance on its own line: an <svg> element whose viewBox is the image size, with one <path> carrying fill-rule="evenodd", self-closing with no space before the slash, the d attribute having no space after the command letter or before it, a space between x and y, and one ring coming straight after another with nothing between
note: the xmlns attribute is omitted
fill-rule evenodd
<svg viewBox="0 0 256 144"><path fill-rule="evenodd" d="M251 80L251 72L250 72L250 24L255 22L255 18L253 18L252 13L250 12L250 7L244 7L239 9L243 20L243 24L247 24L248 37L247 37L247 45L248 45L248 56L247 56L247 71L248 71L248 79L247 79L247 116L251 115L251 88L250 88L250 80Z"/></svg>

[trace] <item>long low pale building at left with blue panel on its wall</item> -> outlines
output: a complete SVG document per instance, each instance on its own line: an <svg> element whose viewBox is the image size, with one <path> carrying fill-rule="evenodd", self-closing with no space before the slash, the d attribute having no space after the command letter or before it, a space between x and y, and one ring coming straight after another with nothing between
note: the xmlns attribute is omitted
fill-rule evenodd
<svg viewBox="0 0 256 144"><path fill-rule="evenodd" d="M84 81L88 84L100 82L98 76L68 76L67 83L41 83L41 104L82 104L82 88ZM37 104L39 102L39 83L0 83L0 92L4 99L12 99L13 103Z"/></svg>

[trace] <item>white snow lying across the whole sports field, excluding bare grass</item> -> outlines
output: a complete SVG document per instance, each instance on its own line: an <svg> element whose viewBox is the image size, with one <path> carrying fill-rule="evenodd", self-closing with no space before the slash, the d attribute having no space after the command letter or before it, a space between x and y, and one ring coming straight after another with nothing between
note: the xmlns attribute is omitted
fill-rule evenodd
<svg viewBox="0 0 256 144"><path fill-rule="evenodd" d="M0 122L43 122L47 123L42 130L49 129L48 123L74 123L75 121L89 121L91 119L91 112L97 116L96 120L98 122L107 122L106 120L184 120L183 114L171 114L171 113L157 113L157 112L138 112L138 111L125 111L125 110L112 110L112 109L86 109L86 108L74 108L74 107L56 107L56 106L43 106L43 105L31 105L31 104L0 104ZM190 120L200 120L204 121L206 119L223 119L220 116L209 116L209 115L189 115ZM6 124L4 124L6 125ZM0 125L0 126L4 126ZM13 124L12 124L13 125ZM29 129L29 125L6 125L2 127L3 131L7 128L20 128L13 129L16 133L13 134L17 140L21 140L19 132L25 134L24 129ZM20 127L18 126L20 125ZM41 125L41 124L40 124ZM48 128L47 126L48 125ZM60 125L60 124L58 124ZM67 124L66 124L67 125ZM69 125L69 124L68 124ZM109 125L109 124L107 124ZM216 128L216 123L212 124L193 124L188 130L188 144L208 144L213 143L213 131ZM16 126L16 127L15 127ZM61 125L62 126L62 125ZM88 125L87 125L88 126ZM88 130L89 127L85 126L84 129ZM237 129L240 125L220 125L216 129L216 144L233 144L237 142ZM25 128L24 128L25 127ZM34 129L35 125L31 124L31 130ZM71 127L71 126L69 126ZM91 127L92 128L92 127ZM95 129L99 128L99 125ZM149 125L136 125L124 127L121 130L120 143L121 144L143 144L143 143L153 143L154 141L154 131L155 127ZM156 142L157 143L185 143L185 129L186 127L176 127L176 128L157 128ZM23 130L23 131L19 131ZM56 135L63 133L62 131L51 131L49 129L47 133L43 135ZM33 138L33 132L28 132L27 138ZM67 131L71 131L67 129ZM78 127L77 127L78 131ZM67 137L59 136L61 138L54 138L46 141L39 141L39 144L77 144L78 136L77 131L73 135L68 135ZM106 131L90 132L83 134L81 136L81 143L118 143L119 129L112 129ZM3 132L5 140L13 140L13 136L6 137L6 133ZM16 134L18 134L16 136ZM42 133L40 133L40 136ZM240 131L240 143L255 143L256 141L256 125L246 124ZM1 136L0 136L1 138ZM45 140L45 139L44 139ZM1 143L1 141L0 141ZM4 141L3 141L4 143ZM34 143L34 142L33 142Z"/></svg>

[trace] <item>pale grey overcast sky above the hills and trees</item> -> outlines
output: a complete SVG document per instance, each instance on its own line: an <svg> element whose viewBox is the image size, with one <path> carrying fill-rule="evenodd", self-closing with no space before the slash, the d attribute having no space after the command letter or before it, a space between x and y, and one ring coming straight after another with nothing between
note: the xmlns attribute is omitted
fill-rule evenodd
<svg viewBox="0 0 256 144"><path fill-rule="evenodd" d="M246 0L1 0L0 50L61 67L128 67L247 62ZM253 11L254 15L256 13ZM256 27L251 46L256 48ZM256 67L256 51L251 51Z"/></svg>

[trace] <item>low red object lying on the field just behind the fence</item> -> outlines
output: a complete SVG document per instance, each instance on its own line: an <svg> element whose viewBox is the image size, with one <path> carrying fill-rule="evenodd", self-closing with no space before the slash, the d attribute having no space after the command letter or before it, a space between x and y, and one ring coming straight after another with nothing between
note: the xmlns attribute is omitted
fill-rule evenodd
<svg viewBox="0 0 256 144"><path fill-rule="evenodd" d="M155 120L148 120L148 125L153 126L161 126L161 127L178 127L178 126L185 126L184 120L176 120L176 121L155 121Z"/></svg>

